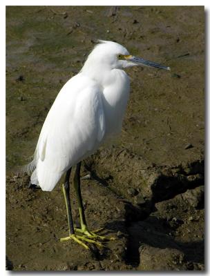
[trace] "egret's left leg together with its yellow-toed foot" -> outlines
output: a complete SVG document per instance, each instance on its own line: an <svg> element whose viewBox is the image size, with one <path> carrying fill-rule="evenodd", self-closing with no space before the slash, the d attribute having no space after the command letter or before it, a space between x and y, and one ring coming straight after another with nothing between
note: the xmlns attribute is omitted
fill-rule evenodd
<svg viewBox="0 0 210 276"><path fill-rule="evenodd" d="M66 172L66 179L65 183L62 185L63 193L64 193L64 199L66 203L66 211L67 211L67 217L68 217L68 229L69 229L69 236L61 238L61 242L68 241L69 239L73 239L78 244L84 246L86 249L90 249L84 242L90 242L93 244L96 244L98 246L102 246L101 244L88 239L87 237L82 237L80 235L75 235L75 229L73 226L73 219L72 219L72 213L71 213L71 207L70 207L70 187L69 187L69 178L70 178L70 172L71 168Z"/></svg>

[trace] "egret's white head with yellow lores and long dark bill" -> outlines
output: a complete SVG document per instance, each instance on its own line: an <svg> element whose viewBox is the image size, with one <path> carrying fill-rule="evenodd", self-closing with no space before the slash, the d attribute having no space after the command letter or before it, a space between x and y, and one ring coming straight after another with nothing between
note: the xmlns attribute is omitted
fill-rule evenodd
<svg viewBox="0 0 210 276"><path fill-rule="evenodd" d="M128 50L119 43L113 41L99 40L99 43L88 56L86 66L97 66L101 70L108 69L123 69L131 66L151 66L155 68L170 70L167 66L162 66L160 63L147 61L141 57L130 55Z"/></svg>

